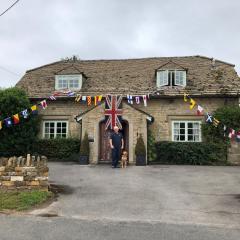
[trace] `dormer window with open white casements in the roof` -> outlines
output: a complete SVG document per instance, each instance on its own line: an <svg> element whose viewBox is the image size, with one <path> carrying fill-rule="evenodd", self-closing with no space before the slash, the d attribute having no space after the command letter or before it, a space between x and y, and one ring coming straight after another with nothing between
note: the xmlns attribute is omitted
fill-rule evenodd
<svg viewBox="0 0 240 240"><path fill-rule="evenodd" d="M159 70L157 71L157 87L186 86L186 71Z"/></svg>

